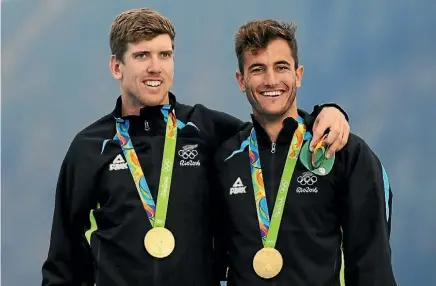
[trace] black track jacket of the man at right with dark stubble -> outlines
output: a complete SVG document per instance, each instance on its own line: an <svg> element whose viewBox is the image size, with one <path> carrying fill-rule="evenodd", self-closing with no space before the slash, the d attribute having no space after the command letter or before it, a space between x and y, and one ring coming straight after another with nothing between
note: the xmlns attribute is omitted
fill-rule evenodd
<svg viewBox="0 0 436 286"><path fill-rule="evenodd" d="M301 116L311 131L313 118ZM297 121L284 121L274 149L266 132L252 119L271 216ZM389 245L392 192L379 159L354 134L336 153L333 169L326 176L309 172L298 161L276 244L284 267L270 280L256 275L253 257L262 242L248 147L242 147L253 125L245 126L226 141L216 156L216 221L221 223L220 248L229 253L228 286L340 285L341 241L347 286L396 285ZM240 152L229 158L236 150ZM232 191L235 186L238 191Z"/></svg>

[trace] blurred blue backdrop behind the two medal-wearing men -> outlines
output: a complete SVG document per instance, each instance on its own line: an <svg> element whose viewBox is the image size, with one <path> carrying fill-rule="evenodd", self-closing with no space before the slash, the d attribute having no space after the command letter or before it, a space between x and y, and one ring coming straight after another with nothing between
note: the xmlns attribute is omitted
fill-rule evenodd
<svg viewBox="0 0 436 286"><path fill-rule="evenodd" d="M251 19L295 21L305 66L299 107L334 101L349 113L394 191L398 285L436 285L436 2L266 3L2 1L2 285L40 283L63 156L119 94L108 69L110 23L143 5L176 26L178 99L244 120L250 109L234 79L236 29Z"/></svg>

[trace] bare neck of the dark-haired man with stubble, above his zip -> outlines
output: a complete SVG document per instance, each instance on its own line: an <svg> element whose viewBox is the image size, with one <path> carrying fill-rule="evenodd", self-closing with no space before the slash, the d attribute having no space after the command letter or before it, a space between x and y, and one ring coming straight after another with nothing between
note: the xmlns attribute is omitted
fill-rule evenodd
<svg viewBox="0 0 436 286"><path fill-rule="evenodd" d="M259 115L257 112L253 112L253 115L266 134L268 134L272 143L275 143L279 137L280 131L283 128L283 120L288 117L292 117L295 120L298 119L297 106L295 105L292 105L284 114L279 116Z"/></svg>

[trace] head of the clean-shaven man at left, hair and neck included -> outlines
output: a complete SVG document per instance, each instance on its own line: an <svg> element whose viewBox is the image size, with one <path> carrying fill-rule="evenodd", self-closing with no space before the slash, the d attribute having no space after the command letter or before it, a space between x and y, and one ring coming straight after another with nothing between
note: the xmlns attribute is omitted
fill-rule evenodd
<svg viewBox="0 0 436 286"><path fill-rule="evenodd" d="M175 35L171 21L150 8L124 11L112 22L110 69L120 83L123 115L169 102Z"/></svg>

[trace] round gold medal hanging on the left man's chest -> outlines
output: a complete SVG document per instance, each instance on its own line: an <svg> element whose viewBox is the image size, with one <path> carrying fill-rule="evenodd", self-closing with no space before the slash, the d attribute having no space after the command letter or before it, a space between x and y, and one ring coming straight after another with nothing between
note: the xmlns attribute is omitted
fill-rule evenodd
<svg viewBox="0 0 436 286"><path fill-rule="evenodd" d="M174 236L164 227L154 227L144 237L145 249L156 258L164 258L173 252Z"/></svg>

